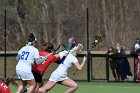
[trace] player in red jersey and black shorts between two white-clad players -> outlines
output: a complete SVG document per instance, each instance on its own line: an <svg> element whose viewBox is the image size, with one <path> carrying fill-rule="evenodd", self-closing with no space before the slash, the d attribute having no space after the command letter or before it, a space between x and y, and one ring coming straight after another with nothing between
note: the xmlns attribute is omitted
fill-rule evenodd
<svg viewBox="0 0 140 93"><path fill-rule="evenodd" d="M35 78L35 81L37 82L35 93L37 93L39 87L42 85L42 76L44 75L46 69L51 63L54 63L57 61L57 59L60 57L59 54L51 54L53 50L53 45L50 42L44 43L41 46L41 50L39 51L40 56L45 56L46 54L50 54L49 58L43 63L43 64L35 64L32 67L32 72Z"/></svg>

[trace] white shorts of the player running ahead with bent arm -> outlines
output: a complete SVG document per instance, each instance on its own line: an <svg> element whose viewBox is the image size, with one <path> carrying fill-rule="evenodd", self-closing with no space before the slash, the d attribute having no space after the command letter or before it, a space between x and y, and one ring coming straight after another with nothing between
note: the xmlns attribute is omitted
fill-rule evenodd
<svg viewBox="0 0 140 93"><path fill-rule="evenodd" d="M49 81L53 81L53 82L60 82L60 81L64 81L68 79L67 74L66 73L61 73L59 71L54 71L51 76Z"/></svg>

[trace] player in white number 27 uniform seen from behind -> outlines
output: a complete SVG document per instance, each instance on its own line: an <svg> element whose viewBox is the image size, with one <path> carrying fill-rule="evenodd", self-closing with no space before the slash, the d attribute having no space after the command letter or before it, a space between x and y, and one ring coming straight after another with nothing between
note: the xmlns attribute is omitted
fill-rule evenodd
<svg viewBox="0 0 140 93"><path fill-rule="evenodd" d="M19 50L16 57L16 60L18 61L16 65L16 73L18 78L22 80L22 84L18 87L16 93L21 93L22 89L27 84L29 84L27 93L34 93L36 82L31 72L32 65L35 63L40 64L47 59L47 57L39 57L39 51L35 48L37 41L34 34L30 34L28 41L29 43Z"/></svg>

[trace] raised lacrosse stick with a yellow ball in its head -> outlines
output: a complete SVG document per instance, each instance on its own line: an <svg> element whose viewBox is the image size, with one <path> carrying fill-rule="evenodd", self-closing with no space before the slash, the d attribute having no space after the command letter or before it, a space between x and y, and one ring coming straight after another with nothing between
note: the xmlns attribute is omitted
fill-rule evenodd
<svg viewBox="0 0 140 93"><path fill-rule="evenodd" d="M96 47L100 42L102 42L102 38L100 36L94 36L94 42L91 44L91 47L88 51L88 53L86 54L85 57L88 57L88 54L90 53L90 51ZM75 72L73 73L73 75L75 75L77 73L78 69L75 70Z"/></svg>

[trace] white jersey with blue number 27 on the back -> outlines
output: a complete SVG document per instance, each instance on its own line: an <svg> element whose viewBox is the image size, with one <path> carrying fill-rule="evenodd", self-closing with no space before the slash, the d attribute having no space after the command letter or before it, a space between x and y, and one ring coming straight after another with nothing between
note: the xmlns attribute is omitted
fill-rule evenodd
<svg viewBox="0 0 140 93"><path fill-rule="evenodd" d="M39 58L38 49L34 46L26 45L19 50L18 54L21 56L18 64L16 65L16 70L31 72L34 59Z"/></svg>

